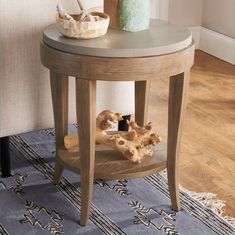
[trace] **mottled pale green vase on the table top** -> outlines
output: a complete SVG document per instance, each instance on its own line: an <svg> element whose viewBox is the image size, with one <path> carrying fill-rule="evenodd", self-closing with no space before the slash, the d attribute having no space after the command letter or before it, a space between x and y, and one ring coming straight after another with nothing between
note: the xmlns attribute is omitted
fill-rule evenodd
<svg viewBox="0 0 235 235"><path fill-rule="evenodd" d="M150 0L121 0L119 24L121 29L138 32L149 28Z"/></svg>

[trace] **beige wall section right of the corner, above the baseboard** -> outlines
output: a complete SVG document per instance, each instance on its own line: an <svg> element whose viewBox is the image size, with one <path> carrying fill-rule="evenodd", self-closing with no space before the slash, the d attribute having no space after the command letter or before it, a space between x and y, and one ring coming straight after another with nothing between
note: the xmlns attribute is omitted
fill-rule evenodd
<svg viewBox="0 0 235 235"><path fill-rule="evenodd" d="M203 0L202 26L235 38L235 0Z"/></svg>

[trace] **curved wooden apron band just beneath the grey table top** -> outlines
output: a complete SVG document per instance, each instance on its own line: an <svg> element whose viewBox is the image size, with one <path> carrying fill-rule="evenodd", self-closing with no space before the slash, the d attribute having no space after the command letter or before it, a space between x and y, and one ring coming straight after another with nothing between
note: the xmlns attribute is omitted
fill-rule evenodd
<svg viewBox="0 0 235 235"><path fill-rule="evenodd" d="M41 61L51 70L83 79L143 81L183 73L193 65L194 44L175 53L139 57L106 58L69 54L41 42Z"/></svg>

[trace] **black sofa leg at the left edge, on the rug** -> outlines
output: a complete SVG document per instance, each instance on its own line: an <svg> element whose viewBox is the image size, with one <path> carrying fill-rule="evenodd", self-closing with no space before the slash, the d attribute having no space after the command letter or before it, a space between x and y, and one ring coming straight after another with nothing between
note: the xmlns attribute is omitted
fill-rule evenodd
<svg viewBox="0 0 235 235"><path fill-rule="evenodd" d="M11 159L10 159L10 141L9 136L0 138L0 160L2 177L11 176Z"/></svg>

